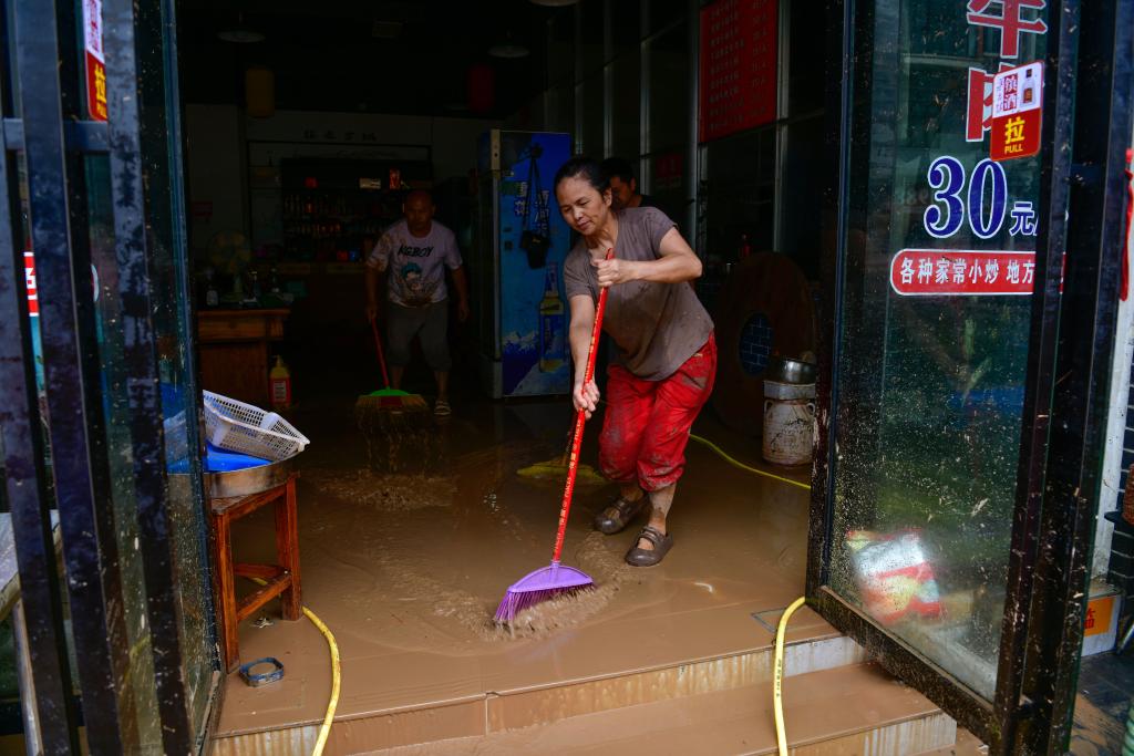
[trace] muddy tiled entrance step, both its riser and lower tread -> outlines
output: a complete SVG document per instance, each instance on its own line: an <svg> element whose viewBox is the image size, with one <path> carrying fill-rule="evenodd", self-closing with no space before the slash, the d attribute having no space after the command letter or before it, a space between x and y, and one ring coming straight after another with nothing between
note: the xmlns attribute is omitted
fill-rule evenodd
<svg viewBox="0 0 1134 756"><path fill-rule="evenodd" d="M568 678L555 685L345 717L336 721L327 753L566 749L586 754L613 753L616 747L623 754L645 753L650 749L635 744L658 723L663 723L669 734L659 746L663 749L654 748L653 753L771 753L772 656L772 648L765 646L722 657L590 679ZM905 756L954 742L953 720L863 662L862 649L845 637L787 646L785 710L789 736L793 742L807 748L798 753ZM706 731L712 732L710 740L705 740ZM218 739L212 753L298 756L310 753L316 732L315 723L249 732ZM540 742L533 742L533 738ZM868 744L870 749L855 750L854 744ZM711 748L704 750L702 746Z"/></svg>

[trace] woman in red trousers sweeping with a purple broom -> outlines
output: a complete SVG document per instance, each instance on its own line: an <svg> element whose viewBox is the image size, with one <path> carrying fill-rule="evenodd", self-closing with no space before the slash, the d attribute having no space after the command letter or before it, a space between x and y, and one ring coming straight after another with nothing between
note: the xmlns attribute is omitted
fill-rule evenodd
<svg viewBox="0 0 1134 756"><path fill-rule="evenodd" d="M701 261L661 211L612 211L609 181L592 160L564 163L556 173L556 198L564 219L583 237L564 263L564 284L570 301L573 398L587 417L599 401L595 383L583 382L583 366L600 289L610 289L602 326L617 347L607 374L599 466L620 491L594 526L618 533L649 502L650 521L626 561L651 567L674 545L666 518L685 467L689 428L717 374L712 318L688 284L701 275ZM604 260L611 248L613 258Z"/></svg>

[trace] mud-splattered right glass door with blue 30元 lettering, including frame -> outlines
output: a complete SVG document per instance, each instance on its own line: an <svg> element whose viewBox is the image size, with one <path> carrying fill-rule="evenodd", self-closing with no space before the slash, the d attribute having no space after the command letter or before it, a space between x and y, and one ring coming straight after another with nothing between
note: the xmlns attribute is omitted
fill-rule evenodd
<svg viewBox="0 0 1134 756"><path fill-rule="evenodd" d="M1118 258L1102 252L1105 223L1068 212L1076 192L1114 192L1122 170L1120 125L1074 111L1128 102L1120 73L1078 82L1089 65L1128 65L1115 51L1129 25L1114 26L1128 10L833 6L846 78L829 97L841 111L824 253L835 325L809 595L995 749L1058 750L1101 460L1092 390L1109 380L1092 366L1112 346L1099 273ZM1083 139L1102 147L1076 189ZM1073 372L1076 387L1061 385ZM1063 453L1077 464L1059 466Z"/></svg>

